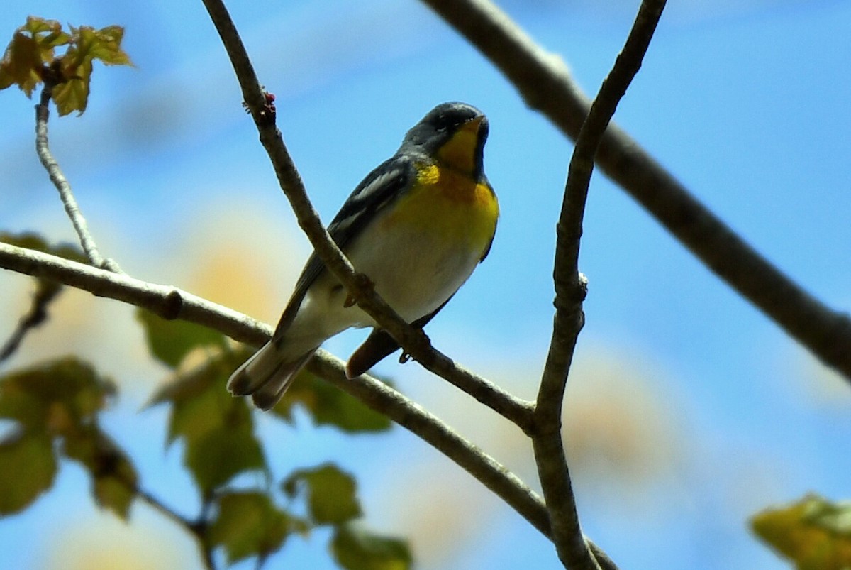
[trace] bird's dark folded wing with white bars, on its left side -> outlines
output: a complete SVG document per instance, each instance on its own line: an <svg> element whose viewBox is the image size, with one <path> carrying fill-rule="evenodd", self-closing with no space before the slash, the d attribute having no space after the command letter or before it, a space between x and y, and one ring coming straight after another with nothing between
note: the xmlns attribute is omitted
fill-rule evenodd
<svg viewBox="0 0 851 570"><path fill-rule="evenodd" d="M357 185L334 216L334 220L328 224L328 233L334 243L345 250L346 245L361 233L363 227L374 219L375 214L408 187L414 176L414 160L407 155L397 154L379 164ZM279 333L283 334L293 322L307 290L324 270L325 264L314 251L307 259L305 268L301 270L293 296L289 298L287 308L278 321L274 337L278 337Z"/></svg>

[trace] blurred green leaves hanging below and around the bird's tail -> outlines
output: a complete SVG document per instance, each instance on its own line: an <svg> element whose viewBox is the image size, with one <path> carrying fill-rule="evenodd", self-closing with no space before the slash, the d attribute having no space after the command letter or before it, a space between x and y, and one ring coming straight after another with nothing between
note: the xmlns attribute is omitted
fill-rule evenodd
<svg viewBox="0 0 851 570"><path fill-rule="evenodd" d="M297 468L281 483L292 505L303 499L306 515L284 508L268 484L273 479L263 443L254 433L254 411L247 401L226 390L227 377L251 354L231 348L226 338L191 323L163 320L143 309L137 318L144 326L151 354L174 370L174 375L151 399L167 405L168 442L183 443L183 460L195 483L213 507L205 539L211 548L223 547L229 562L248 556L261 561L280 549L294 533L331 526L331 551L346 568L407 568L408 547L395 538L356 531L362 515L357 484L332 463ZM350 395L302 372L292 390L274 410L292 423L294 407L310 414L314 423L331 424L350 433L390 429L386 417L369 410ZM227 487L234 477L255 472L267 484L256 488ZM352 537L360 537L359 539ZM344 541L346 548L338 543ZM394 544L395 550L387 544ZM391 554L388 554L390 552Z"/></svg>

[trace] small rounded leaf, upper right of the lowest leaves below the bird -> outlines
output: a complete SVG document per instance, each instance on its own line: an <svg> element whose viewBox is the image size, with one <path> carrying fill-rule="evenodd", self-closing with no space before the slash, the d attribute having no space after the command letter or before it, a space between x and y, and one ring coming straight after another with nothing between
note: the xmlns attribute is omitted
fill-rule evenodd
<svg viewBox="0 0 851 570"><path fill-rule="evenodd" d="M282 487L291 498L300 489L306 491L311 520L317 525L337 525L362 514L355 478L333 463L299 469L283 481Z"/></svg>

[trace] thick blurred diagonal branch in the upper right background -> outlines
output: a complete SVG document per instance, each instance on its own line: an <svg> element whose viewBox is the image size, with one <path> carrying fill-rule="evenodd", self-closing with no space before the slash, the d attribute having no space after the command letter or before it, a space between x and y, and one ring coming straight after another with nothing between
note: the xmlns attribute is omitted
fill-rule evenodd
<svg viewBox="0 0 851 570"><path fill-rule="evenodd" d="M423 0L500 69L529 107L568 137L579 135L589 101L556 55L489 0ZM706 267L762 310L825 365L851 381L851 319L810 296L658 164L609 124L597 164Z"/></svg>

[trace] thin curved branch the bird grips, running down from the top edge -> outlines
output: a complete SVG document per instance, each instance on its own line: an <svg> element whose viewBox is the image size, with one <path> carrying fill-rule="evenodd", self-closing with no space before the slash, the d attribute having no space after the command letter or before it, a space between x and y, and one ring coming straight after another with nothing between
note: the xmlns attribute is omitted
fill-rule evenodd
<svg viewBox="0 0 851 570"><path fill-rule="evenodd" d="M281 131L275 126L274 110L260 88L254 66L248 59L248 53L230 14L220 0L203 2L231 59L243 90L243 99L254 118L254 124L260 133L260 142L269 154L278 183L289 200L301 229L328 270L346 286L352 297L357 300L358 306L390 333L404 351L420 365L453 383L528 433L532 419L532 406L529 402L456 365L454 360L433 348L426 333L402 320L374 291L368 277L357 273L340 248L334 244L307 197L301 176L283 143Z"/></svg>

